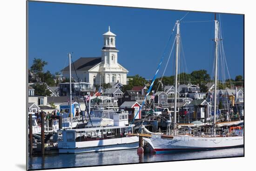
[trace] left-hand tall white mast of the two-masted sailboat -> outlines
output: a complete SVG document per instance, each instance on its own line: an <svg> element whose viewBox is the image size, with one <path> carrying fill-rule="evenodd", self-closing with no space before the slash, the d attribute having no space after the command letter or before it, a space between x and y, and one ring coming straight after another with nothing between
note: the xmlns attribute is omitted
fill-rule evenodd
<svg viewBox="0 0 256 171"><path fill-rule="evenodd" d="M174 130L176 130L176 108L177 108L177 87L178 87L178 62L179 62L179 39L180 39L180 21L176 21L176 64L175 64L175 95L174 95Z"/></svg>

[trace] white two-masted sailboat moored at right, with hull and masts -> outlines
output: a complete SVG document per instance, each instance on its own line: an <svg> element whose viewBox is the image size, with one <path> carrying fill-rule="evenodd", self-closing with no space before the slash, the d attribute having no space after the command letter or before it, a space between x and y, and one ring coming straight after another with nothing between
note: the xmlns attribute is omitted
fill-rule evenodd
<svg viewBox="0 0 256 171"><path fill-rule="evenodd" d="M215 19L215 85L217 85L217 68L218 68L218 42L219 38L219 22ZM176 126L176 108L177 108L177 75L178 75L178 59L179 59L179 39L180 39L180 22L176 22L176 62L175 62L175 112L174 112L174 123L173 131L168 131L166 134L163 133L151 133L145 127L142 127L146 133L151 133L151 138L144 138L144 140L151 146L154 152L172 152L172 151L183 151L183 150L202 150L202 149L217 149L217 148L228 148L243 146L243 130L242 132L222 130L222 133L216 131L216 93L214 94L214 120L212 127L209 128L207 133L201 133L201 129L195 129L193 134L191 131L186 133L180 133L177 131ZM217 86L215 86L216 92ZM169 120L169 126L171 120ZM227 123L230 125L230 123ZM228 126L224 124L225 126ZM223 125L223 124L222 124ZM222 125L217 125L222 126ZM169 129L170 130L170 129Z"/></svg>

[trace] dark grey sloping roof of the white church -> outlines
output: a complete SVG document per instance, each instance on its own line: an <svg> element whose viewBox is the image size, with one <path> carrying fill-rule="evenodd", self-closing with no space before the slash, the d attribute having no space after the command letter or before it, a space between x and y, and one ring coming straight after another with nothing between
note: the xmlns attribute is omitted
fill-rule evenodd
<svg viewBox="0 0 256 171"><path fill-rule="evenodd" d="M93 68L98 63L101 63L101 57L80 57L74 61L74 65L71 64L71 70L86 71ZM62 71L69 71L69 66L65 67Z"/></svg>

